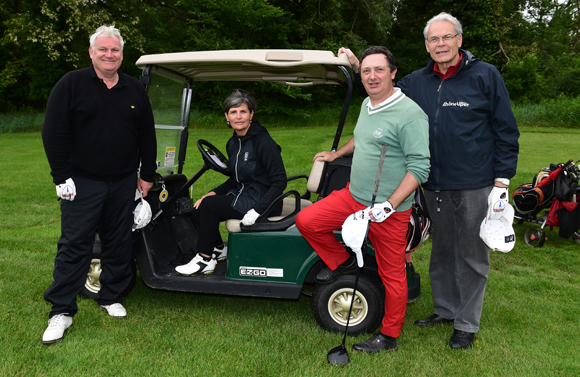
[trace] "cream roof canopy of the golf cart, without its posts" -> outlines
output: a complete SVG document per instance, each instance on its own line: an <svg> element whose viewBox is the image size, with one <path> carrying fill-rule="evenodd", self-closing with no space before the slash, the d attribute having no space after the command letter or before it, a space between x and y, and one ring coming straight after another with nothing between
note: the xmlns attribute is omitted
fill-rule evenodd
<svg viewBox="0 0 580 377"><path fill-rule="evenodd" d="M352 68L345 54L317 50L218 50L144 55L141 68L181 81L264 81L290 86L345 82L345 67Z"/></svg>

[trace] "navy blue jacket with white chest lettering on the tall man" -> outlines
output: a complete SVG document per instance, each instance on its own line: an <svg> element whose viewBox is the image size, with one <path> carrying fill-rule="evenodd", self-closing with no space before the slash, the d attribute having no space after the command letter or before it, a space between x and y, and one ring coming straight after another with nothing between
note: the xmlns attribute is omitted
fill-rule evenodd
<svg viewBox="0 0 580 377"><path fill-rule="evenodd" d="M461 50L458 71L444 81L431 59L397 83L429 117L427 190L470 190L516 173L519 130L499 71Z"/></svg>

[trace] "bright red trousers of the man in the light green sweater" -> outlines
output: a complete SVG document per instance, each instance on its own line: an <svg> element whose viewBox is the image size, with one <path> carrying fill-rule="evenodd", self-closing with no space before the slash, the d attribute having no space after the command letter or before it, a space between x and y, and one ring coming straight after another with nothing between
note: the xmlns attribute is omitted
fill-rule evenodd
<svg viewBox="0 0 580 377"><path fill-rule="evenodd" d="M296 226L324 263L334 271L349 258L349 254L333 232L342 228L349 215L366 207L352 197L347 186L300 211ZM371 222L369 229L379 276L385 286L385 316L381 332L394 338L401 333L407 310L405 248L410 216L411 210L395 212L382 223Z"/></svg>

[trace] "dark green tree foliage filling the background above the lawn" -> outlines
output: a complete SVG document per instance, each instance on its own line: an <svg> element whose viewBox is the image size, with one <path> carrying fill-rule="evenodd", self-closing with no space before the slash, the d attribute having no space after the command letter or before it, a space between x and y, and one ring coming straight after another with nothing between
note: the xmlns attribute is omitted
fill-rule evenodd
<svg viewBox="0 0 580 377"><path fill-rule="evenodd" d="M464 47L503 74L512 100L539 104L580 94L577 0L0 0L0 112L43 110L62 75L90 64L88 38L115 24L126 40L123 70L139 76L142 54L292 48L360 54L386 45L400 78L423 67L422 31L450 12ZM230 83L199 85L196 109L215 111ZM332 90L247 88L265 114L304 115L336 105ZM292 98L292 101L287 101Z"/></svg>

